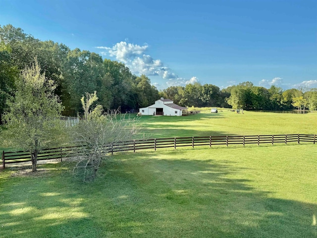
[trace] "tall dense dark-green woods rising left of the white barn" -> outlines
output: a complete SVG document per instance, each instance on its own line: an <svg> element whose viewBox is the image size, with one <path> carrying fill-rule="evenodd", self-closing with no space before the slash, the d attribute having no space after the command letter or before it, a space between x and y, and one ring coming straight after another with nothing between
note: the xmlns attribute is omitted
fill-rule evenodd
<svg viewBox="0 0 317 238"><path fill-rule="evenodd" d="M159 91L147 76L132 74L121 62L40 41L9 24L0 26L0 115L7 110L5 101L15 96L21 71L30 67L35 57L41 73L56 85L54 93L62 102L64 116L83 113L80 99L85 92L98 91L98 104L105 109L120 107L123 112L147 107L159 98Z"/></svg>

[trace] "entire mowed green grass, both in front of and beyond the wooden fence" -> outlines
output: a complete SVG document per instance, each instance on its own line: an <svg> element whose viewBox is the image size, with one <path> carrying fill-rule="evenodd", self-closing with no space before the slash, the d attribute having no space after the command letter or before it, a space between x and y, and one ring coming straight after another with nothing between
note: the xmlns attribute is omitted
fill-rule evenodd
<svg viewBox="0 0 317 238"><path fill-rule="evenodd" d="M151 138L316 134L316 121L252 112L140 119ZM317 145L118 153L88 183L71 169L0 171L0 237L317 237Z"/></svg>

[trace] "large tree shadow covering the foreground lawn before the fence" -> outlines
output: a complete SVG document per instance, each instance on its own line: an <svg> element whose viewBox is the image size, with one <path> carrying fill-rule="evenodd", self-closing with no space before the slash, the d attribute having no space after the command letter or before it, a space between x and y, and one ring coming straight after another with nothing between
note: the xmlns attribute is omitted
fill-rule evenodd
<svg viewBox="0 0 317 238"><path fill-rule="evenodd" d="M161 159L157 153L115 156L102 166L93 183L80 183L69 173L12 178L0 194L0 234L117 238L317 236L313 221L316 204L269 198L269 191L248 185L250 179L234 179L246 170L237 162L185 159L186 150L164 152ZM173 159L175 153L183 159Z"/></svg>

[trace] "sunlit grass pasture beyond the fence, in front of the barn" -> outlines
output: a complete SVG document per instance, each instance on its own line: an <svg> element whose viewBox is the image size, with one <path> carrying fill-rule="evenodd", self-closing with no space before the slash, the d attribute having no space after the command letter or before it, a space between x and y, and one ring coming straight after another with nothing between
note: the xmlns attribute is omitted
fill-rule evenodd
<svg viewBox="0 0 317 238"><path fill-rule="evenodd" d="M209 111L186 117L142 116L143 131L151 138L258 135L258 134L317 134L317 113L283 114L244 112L236 114Z"/></svg>

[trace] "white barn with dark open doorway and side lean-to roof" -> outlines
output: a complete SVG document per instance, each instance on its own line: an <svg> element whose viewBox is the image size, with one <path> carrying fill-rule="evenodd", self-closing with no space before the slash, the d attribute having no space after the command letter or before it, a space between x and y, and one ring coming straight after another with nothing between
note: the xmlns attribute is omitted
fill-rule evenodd
<svg viewBox="0 0 317 238"><path fill-rule="evenodd" d="M160 98L155 101L155 104L147 107L140 108L140 113L142 115L162 115L162 116L182 116L183 112L187 111L188 108L178 106L173 103L170 99Z"/></svg>

